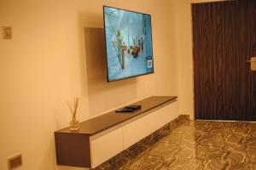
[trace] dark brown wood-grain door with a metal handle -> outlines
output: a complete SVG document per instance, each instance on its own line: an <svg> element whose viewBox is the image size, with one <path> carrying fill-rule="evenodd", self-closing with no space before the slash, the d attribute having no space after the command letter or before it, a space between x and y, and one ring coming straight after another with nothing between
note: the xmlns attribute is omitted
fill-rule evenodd
<svg viewBox="0 0 256 170"><path fill-rule="evenodd" d="M192 4L196 119L256 121L255 3Z"/></svg>

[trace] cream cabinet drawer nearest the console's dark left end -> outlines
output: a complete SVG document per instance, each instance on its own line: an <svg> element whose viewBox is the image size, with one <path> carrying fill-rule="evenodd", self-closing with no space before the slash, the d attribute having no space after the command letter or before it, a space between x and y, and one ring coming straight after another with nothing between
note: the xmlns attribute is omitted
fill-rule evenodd
<svg viewBox="0 0 256 170"><path fill-rule="evenodd" d="M96 167L102 162L117 155L123 150L122 127L106 133L96 139L90 140L91 167Z"/></svg>

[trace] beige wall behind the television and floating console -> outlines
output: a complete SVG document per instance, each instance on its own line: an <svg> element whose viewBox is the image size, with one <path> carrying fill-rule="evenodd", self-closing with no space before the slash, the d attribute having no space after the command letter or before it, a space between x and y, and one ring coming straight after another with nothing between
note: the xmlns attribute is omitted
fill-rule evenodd
<svg viewBox="0 0 256 170"><path fill-rule="evenodd" d="M23 156L17 170L79 169L55 165L54 131L68 126L65 101L73 96L84 121L150 95L177 95L175 14L168 2L1 0L0 26L12 26L13 38L0 37L0 169L16 153ZM102 47L102 30L87 28L102 28L103 4L152 14L154 74L101 79L103 52L92 49ZM99 44L90 43L92 35Z"/></svg>

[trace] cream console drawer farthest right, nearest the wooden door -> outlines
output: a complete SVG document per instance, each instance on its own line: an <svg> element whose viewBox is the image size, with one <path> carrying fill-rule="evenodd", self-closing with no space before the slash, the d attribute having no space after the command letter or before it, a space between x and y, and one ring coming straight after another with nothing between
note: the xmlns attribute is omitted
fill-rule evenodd
<svg viewBox="0 0 256 170"><path fill-rule="evenodd" d="M171 122L177 117L177 102L172 104L165 105L159 110L154 111L153 113L146 116L146 133L154 133L160 127L163 127L168 122Z"/></svg>

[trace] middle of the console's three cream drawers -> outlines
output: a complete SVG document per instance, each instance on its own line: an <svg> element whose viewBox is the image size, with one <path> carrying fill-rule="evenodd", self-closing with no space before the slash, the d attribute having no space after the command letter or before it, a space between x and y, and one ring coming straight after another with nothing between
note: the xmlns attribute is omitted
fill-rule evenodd
<svg viewBox="0 0 256 170"><path fill-rule="evenodd" d="M123 127L124 133L124 149L146 137L146 121L145 117L140 117L134 122L130 122Z"/></svg>

